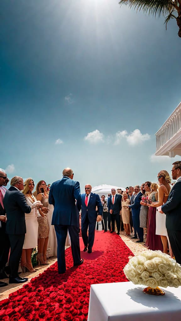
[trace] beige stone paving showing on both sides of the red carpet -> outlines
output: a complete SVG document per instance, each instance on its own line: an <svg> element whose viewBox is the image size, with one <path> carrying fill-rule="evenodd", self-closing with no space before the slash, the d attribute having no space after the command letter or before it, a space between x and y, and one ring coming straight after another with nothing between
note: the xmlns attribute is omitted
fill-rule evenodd
<svg viewBox="0 0 181 321"><path fill-rule="evenodd" d="M136 240L131 239L130 236L126 236L124 231L120 232L120 237L125 242L127 247L129 247L129 249L133 252L134 255L138 255L143 250L146 249L146 247L143 246L143 243L136 243ZM38 276L40 273L42 273L44 270L46 270L47 267L49 267L50 265L54 264L56 262L56 260L57 260L56 257L51 257L51 258L48 259L49 265L36 266L35 267L35 269L37 269L36 272L34 272L34 273L31 273L31 272L23 273L23 274L21 274L21 276L28 277L28 281L30 281L32 278L34 278L35 276ZM1 280L1 281L4 281L4 282L8 283L8 279L4 279L4 280ZM24 284L25 283L23 283L21 285L19 285L19 284L8 284L7 286L5 286L3 288L0 288L0 300L8 298L10 293L12 293L14 291L17 291Z"/></svg>

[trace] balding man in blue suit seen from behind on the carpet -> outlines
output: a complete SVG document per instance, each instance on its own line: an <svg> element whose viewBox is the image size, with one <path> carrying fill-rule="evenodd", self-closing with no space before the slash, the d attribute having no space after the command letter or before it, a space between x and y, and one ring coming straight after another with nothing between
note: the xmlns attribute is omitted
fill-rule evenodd
<svg viewBox="0 0 181 321"><path fill-rule="evenodd" d="M54 182L50 187L49 204L53 204L52 225L55 227L57 237L57 261L59 274L65 273L65 241L67 231L71 238L71 252L73 265L83 263L79 244L79 210L80 184L73 180L73 171L70 168L63 170L63 178ZM78 202L79 201L79 202Z"/></svg>

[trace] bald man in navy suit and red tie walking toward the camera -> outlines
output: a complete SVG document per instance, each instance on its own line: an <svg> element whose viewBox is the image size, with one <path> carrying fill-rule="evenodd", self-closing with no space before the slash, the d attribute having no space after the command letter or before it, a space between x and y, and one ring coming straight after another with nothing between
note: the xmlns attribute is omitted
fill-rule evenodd
<svg viewBox="0 0 181 321"><path fill-rule="evenodd" d="M96 221L102 220L103 206L98 194L91 193L90 184L85 186L85 194L81 195L81 231L84 242L84 252L92 253ZM97 207L97 211L96 211ZM89 227L89 235L87 230Z"/></svg>

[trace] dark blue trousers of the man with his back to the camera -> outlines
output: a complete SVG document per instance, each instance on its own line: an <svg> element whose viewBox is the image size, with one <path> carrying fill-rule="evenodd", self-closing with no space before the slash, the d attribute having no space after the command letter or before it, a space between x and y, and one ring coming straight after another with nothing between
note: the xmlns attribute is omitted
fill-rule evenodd
<svg viewBox="0 0 181 321"><path fill-rule="evenodd" d="M71 253L73 257L73 264L79 264L81 261L81 251L79 244L79 227L76 225L54 225L57 237L57 263L58 272L66 271L65 264L65 241L67 231L69 231L71 238Z"/></svg>

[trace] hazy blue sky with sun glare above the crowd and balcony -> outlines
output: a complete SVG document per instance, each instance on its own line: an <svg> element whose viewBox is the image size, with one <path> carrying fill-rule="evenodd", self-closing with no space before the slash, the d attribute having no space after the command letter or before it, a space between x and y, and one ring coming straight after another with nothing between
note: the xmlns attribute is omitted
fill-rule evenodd
<svg viewBox="0 0 181 321"><path fill-rule="evenodd" d="M155 133L181 101L176 21L117 0L2 0L1 163L8 177L156 181ZM135 132L135 130L137 130ZM10 167L8 167L11 165Z"/></svg>

